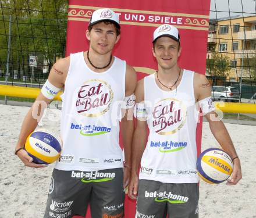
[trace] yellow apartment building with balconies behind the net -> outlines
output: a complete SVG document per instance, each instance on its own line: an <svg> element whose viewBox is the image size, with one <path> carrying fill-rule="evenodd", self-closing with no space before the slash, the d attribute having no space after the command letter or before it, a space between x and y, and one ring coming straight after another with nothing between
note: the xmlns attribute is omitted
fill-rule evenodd
<svg viewBox="0 0 256 218"><path fill-rule="evenodd" d="M227 81L250 78L248 59L256 53L256 16L232 16L209 21L207 59L213 51L230 59ZM207 70L209 74L209 69Z"/></svg>

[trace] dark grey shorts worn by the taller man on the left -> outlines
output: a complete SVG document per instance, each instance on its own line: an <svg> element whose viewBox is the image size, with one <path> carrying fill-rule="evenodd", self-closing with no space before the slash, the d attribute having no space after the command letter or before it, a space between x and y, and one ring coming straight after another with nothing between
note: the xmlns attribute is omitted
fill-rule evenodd
<svg viewBox="0 0 256 218"><path fill-rule="evenodd" d="M124 216L123 169L63 171L54 169L44 218L85 216L90 204L92 218Z"/></svg>

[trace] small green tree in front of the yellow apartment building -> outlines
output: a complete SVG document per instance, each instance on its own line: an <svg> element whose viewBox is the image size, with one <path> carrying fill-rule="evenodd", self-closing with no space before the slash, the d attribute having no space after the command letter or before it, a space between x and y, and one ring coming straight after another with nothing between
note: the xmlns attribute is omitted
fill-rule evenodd
<svg viewBox="0 0 256 218"><path fill-rule="evenodd" d="M212 76L226 77L230 70L229 57L213 52L212 59L207 59L207 69L212 72Z"/></svg>

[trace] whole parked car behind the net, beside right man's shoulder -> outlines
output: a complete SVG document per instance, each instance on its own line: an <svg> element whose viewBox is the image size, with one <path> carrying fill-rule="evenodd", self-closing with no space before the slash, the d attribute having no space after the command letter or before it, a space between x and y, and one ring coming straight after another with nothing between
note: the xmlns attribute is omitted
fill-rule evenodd
<svg viewBox="0 0 256 218"><path fill-rule="evenodd" d="M212 99L214 101L239 102L239 90L230 86L213 86Z"/></svg>

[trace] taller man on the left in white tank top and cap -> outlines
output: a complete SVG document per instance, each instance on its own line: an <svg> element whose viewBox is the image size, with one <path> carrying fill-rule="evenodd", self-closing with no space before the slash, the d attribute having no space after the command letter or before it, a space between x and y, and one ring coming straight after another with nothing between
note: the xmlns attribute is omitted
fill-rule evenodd
<svg viewBox="0 0 256 218"><path fill-rule="evenodd" d="M44 105L65 88L62 152L52 174L44 217L85 216L89 203L93 218L124 216L136 72L125 61L112 56L120 39L120 25L118 15L111 9L95 10L86 37L90 41L88 51L71 54L52 67L35 100L41 101L41 106L33 106L25 117L15 149L26 166L44 167L33 163L24 144L38 124L33 111L42 115ZM121 118L124 159L119 145Z"/></svg>

